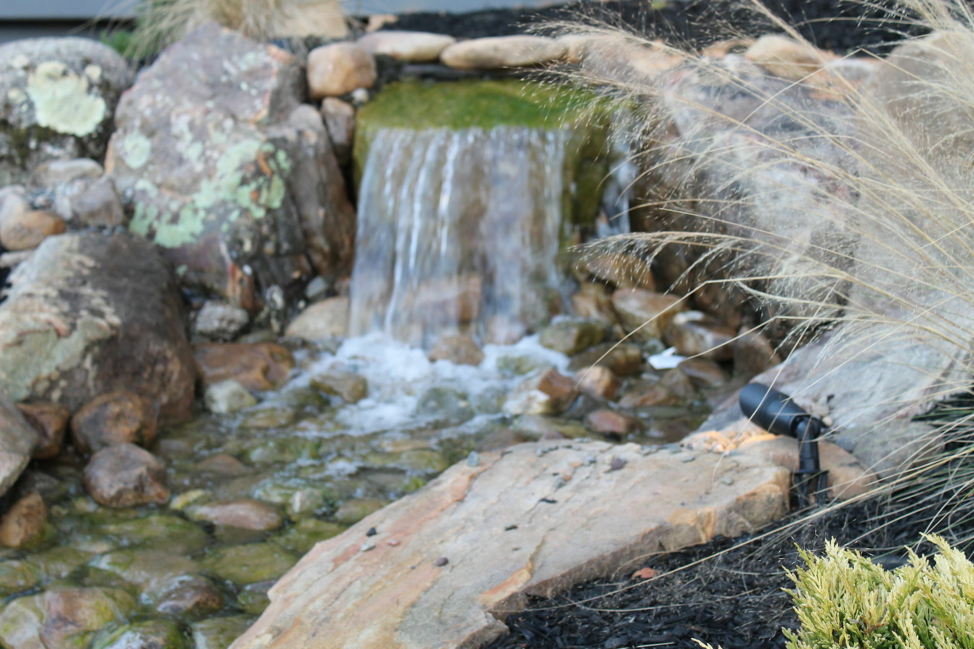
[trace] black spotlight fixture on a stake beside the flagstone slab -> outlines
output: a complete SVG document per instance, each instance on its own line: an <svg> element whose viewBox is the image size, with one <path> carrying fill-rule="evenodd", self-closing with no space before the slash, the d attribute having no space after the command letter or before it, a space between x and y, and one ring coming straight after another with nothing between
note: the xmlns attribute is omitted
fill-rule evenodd
<svg viewBox="0 0 974 649"><path fill-rule="evenodd" d="M764 385L750 383L740 391L740 409L755 424L775 435L798 439L798 471L795 491L799 506L825 498L828 472L818 461L818 437L825 424L792 401L788 395Z"/></svg>

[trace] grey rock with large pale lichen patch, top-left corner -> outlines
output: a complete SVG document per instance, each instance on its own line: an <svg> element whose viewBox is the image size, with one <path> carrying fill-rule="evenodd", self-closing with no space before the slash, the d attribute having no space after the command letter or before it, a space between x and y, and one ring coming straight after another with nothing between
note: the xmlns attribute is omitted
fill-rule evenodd
<svg viewBox="0 0 974 649"><path fill-rule="evenodd" d="M0 186L50 160L100 159L132 71L88 38L34 38L0 46Z"/></svg>

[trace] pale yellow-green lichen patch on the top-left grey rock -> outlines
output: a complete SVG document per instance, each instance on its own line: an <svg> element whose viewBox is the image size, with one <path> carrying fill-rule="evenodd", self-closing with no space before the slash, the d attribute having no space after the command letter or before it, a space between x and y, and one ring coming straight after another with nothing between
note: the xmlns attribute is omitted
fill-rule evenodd
<svg viewBox="0 0 974 649"><path fill-rule="evenodd" d="M105 100L89 95L88 77L57 60L39 64L27 77L27 96L34 104L37 123L57 133L84 136L94 133L105 119Z"/></svg>

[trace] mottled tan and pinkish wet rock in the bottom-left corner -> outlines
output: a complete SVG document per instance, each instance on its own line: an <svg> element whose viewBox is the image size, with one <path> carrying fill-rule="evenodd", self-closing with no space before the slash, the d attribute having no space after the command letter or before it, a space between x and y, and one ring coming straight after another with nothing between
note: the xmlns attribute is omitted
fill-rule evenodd
<svg viewBox="0 0 974 649"><path fill-rule="evenodd" d="M58 586L14 599L0 612L0 643L11 649L87 647L98 630L123 623L135 600L119 589Z"/></svg>

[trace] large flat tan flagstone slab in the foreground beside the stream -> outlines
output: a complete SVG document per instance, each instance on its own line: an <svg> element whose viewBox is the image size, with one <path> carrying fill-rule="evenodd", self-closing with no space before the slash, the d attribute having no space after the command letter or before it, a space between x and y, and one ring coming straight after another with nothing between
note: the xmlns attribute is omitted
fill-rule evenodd
<svg viewBox="0 0 974 649"><path fill-rule="evenodd" d="M785 513L789 480L758 457L637 444L483 453L318 543L232 649L482 647L529 594L764 526Z"/></svg>

